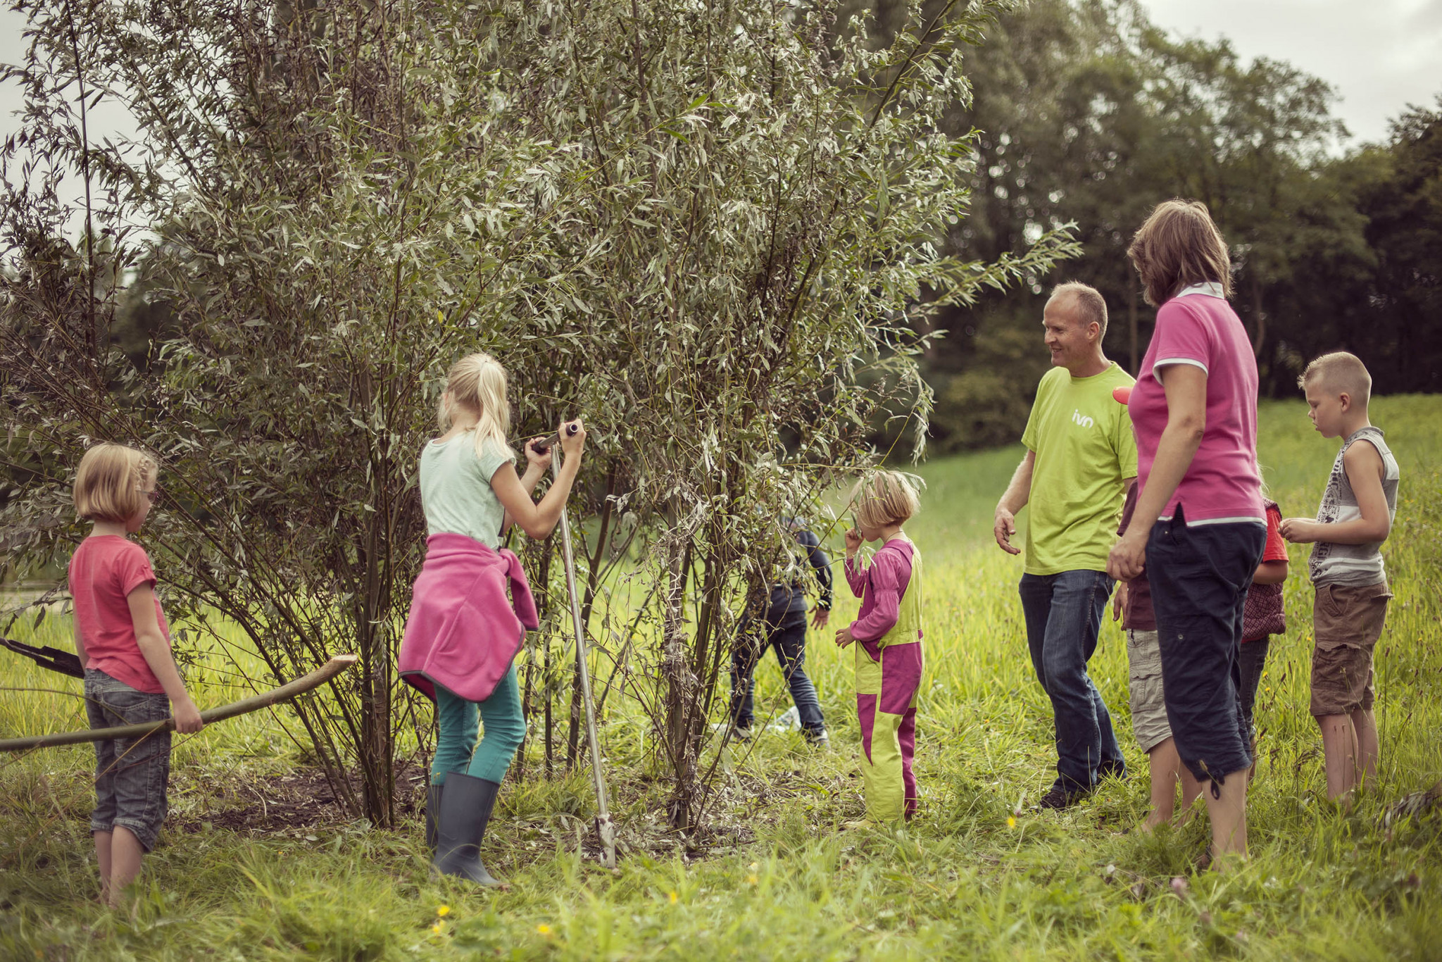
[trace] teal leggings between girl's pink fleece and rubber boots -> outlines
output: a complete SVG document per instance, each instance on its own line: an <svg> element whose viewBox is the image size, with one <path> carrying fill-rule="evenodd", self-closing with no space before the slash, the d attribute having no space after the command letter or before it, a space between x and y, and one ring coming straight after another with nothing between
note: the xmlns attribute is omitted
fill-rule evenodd
<svg viewBox="0 0 1442 962"><path fill-rule="evenodd" d="M486 731L477 744L480 723L486 724ZM446 785L450 772L499 783L526 737L516 666L510 666L490 698L482 702L466 701L435 685L435 727L431 785Z"/></svg>

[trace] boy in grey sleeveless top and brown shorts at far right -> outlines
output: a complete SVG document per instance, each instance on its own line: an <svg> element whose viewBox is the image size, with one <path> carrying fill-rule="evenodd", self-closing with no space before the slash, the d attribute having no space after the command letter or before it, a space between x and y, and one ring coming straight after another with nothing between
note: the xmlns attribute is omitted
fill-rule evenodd
<svg viewBox="0 0 1442 962"><path fill-rule="evenodd" d="M1350 805L1351 790L1377 775L1371 655L1392 599L1381 542L1397 513L1400 472L1381 430L1367 420L1371 376L1361 361L1341 350L1322 355L1298 384L1318 433L1345 438L1317 521L1288 518L1282 537L1315 542L1311 710L1322 730L1327 796Z"/></svg>

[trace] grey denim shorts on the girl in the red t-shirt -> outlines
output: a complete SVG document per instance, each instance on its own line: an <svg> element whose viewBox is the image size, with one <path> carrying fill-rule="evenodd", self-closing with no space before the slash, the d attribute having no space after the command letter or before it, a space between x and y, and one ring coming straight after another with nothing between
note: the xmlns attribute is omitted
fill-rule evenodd
<svg viewBox="0 0 1442 962"><path fill-rule="evenodd" d="M112 728L170 717L170 700L136 691L95 668L85 669L85 714L91 728ZM92 832L128 829L149 852L166 818L170 777L170 731L140 738L95 743L95 811Z"/></svg>

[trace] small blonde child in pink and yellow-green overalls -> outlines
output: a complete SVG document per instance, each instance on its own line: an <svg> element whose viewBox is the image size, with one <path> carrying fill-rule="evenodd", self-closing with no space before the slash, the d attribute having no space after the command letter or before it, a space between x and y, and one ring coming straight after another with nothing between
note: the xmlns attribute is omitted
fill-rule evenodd
<svg viewBox="0 0 1442 962"><path fill-rule="evenodd" d="M916 813L916 698L921 688L921 552L901 531L920 509L897 472L877 472L851 492L857 526L846 532L846 584L861 599L857 620L836 632L857 643L857 718L867 818L848 828L910 819ZM857 560L862 541L880 541L871 565Z"/></svg>

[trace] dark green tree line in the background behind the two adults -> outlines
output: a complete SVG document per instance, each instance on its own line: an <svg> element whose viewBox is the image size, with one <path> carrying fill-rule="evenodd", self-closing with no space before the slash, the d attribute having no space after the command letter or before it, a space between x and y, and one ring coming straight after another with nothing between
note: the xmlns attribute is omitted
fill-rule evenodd
<svg viewBox="0 0 1442 962"><path fill-rule="evenodd" d="M880 22L904 7L883 0ZM1135 372L1155 312L1125 252L1169 196L1204 200L1233 248L1263 395L1292 397L1306 359L1334 349L1361 356L1380 392L1442 389L1442 97L1396 118L1386 143L1335 156L1327 84L1246 63L1226 40L1174 39L1135 0L1031 0L965 63L975 97L946 123L981 133L952 250L985 261L1071 222L1082 254L1030 291L981 291L936 316L947 333L923 374L942 450L1021 436L1057 281L1106 296L1107 355Z"/></svg>

